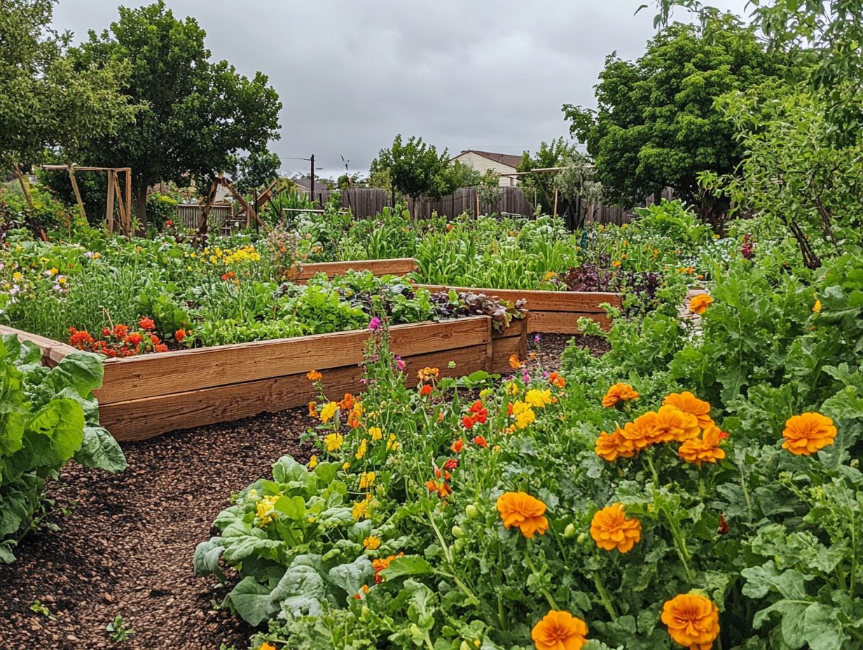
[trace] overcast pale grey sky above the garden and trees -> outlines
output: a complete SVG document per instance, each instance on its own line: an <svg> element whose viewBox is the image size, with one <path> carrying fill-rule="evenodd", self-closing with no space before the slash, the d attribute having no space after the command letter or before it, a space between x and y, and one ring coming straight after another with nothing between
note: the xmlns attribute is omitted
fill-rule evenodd
<svg viewBox="0 0 863 650"><path fill-rule="evenodd" d="M595 104L607 54L635 59L654 34L648 0L167 0L195 16L214 59L261 70L279 93L287 174L315 154L324 175L365 174L397 133L451 154L520 155L567 136L561 106ZM60 0L54 24L75 41L117 20L117 0ZM126 0L126 6L145 2ZM746 0L711 4L743 13ZM684 18L682 12L678 12ZM322 172L318 172L321 174Z"/></svg>

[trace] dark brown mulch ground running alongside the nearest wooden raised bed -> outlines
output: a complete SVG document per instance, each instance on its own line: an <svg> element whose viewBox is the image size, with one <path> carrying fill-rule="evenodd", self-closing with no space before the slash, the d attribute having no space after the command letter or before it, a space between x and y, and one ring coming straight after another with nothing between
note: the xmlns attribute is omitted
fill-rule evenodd
<svg viewBox="0 0 863 650"><path fill-rule="evenodd" d="M528 369L558 369L569 340L531 338ZM601 338L576 340L604 351ZM299 437L311 424L306 409L292 409L125 443L129 469L116 475L69 464L49 487L57 508L70 509L53 517L60 530L31 534L16 563L0 565L0 650L248 647L252 630L213 607L226 590L195 577L192 554L231 493L284 454L308 458ZM36 600L52 618L30 609ZM135 630L124 643L105 632L117 614Z"/></svg>

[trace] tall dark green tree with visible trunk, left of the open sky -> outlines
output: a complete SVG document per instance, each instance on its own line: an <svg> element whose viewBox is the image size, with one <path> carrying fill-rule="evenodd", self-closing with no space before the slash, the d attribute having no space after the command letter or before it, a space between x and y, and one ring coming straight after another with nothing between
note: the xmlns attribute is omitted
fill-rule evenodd
<svg viewBox="0 0 863 650"><path fill-rule="evenodd" d="M79 69L110 69L129 61L123 91L146 107L116 135L91 138L85 159L132 167L136 214L143 224L148 186L160 180L187 186L192 177L209 186L233 167L237 152L261 155L268 141L279 137L281 104L263 73L248 79L224 60L211 61L198 22L177 20L163 0L119 12L110 32L91 31L73 54Z"/></svg>

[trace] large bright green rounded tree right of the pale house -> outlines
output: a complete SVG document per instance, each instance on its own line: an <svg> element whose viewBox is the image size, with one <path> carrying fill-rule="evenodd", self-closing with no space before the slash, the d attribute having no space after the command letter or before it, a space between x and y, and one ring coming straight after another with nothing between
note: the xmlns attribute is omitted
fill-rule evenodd
<svg viewBox="0 0 863 650"><path fill-rule="evenodd" d="M634 63L608 56L596 110L566 104L564 113L613 202L630 207L671 187L702 217L716 220L728 199L701 192L697 175L730 172L742 150L714 100L783 75L785 61L766 53L753 29L734 16L697 26L675 23Z"/></svg>

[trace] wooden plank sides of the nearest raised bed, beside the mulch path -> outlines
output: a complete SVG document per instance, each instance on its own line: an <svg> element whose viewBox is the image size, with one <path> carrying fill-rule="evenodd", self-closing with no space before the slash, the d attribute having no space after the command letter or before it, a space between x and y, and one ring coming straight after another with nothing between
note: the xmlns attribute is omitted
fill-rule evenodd
<svg viewBox="0 0 863 650"><path fill-rule="evenodd" d="M488 316L394 325L390 346L404 359L410 382L425 366L444 376L504 373L510 371L510 355L525 358L526 329L526 319L520 319L507 331L493 332ZM26 332L12 333L39 344L47 363L74 350ZM311 369L324 375L326 394L340 399L362 388L359 364L368 338L367 330L343 331L105 359L104 383L95 392L99 420L117 440L137 440L304 406L318 397L306 379Z"/></svg>

